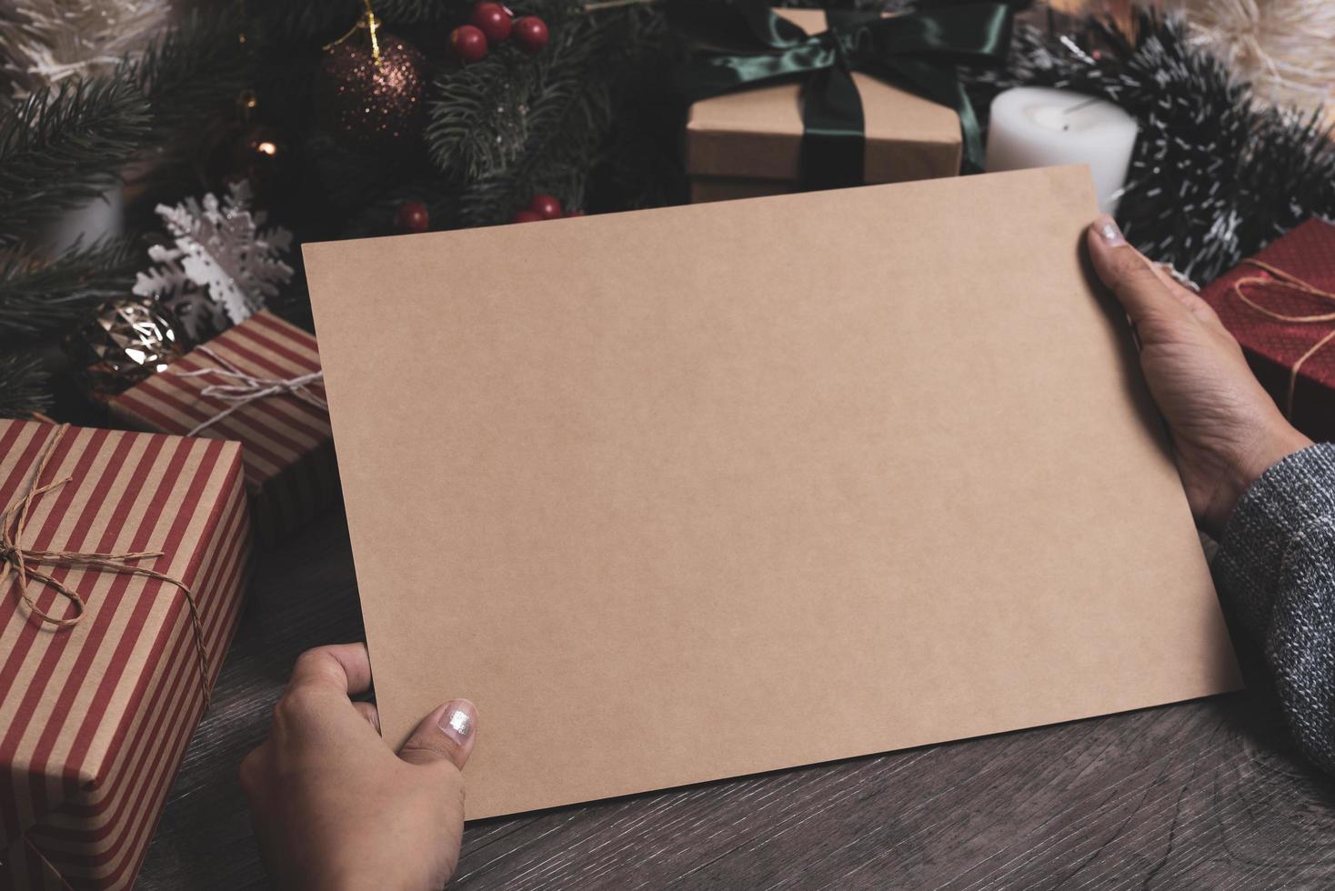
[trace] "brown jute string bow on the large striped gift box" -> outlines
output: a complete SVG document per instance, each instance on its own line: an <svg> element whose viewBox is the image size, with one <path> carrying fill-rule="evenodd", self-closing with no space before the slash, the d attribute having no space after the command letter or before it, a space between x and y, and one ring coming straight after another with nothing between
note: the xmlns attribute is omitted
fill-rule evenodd
<svg viewBox="0 0 1335 891"><path fill-rule="evenodd" d="M52 480L45 486L39 486L43 475L45 474L47 464L51 462L51 456L56 451L56 446L60 444L60 440L68 429L69 424L60 424L56 428L56 435L47 443L41 452L41 459L37 462L37 472L33 474L32 483L28 486L27 494L11 504L3 515L0 515L0 526L3 526L3 528L0 528L0 572L3 572L4 576L8 576L12 571L17 582L15 590L17 591L19 598L28 606L31 614L36 616L39 622L55 626L56 628L68 628L79 624L87 610L84 599L77 591L65 587L64 583L52 575L33 568L35 566L72 567L77 570L99 570L101 572L142 575L176 586L180 588L180 592L186 595L186 603L190 606L190 622L195 631L195 651L199 656L199 688L204 696L204 707L207 708L208 652L204 650L204 628L199 620L199 607L195 603L195 595L188 587L186 587L184 583L171 578L170 575L158 572L156 570L134 566L136 560L163 556L162 551L127 551L121 554L35 551L23 544L23 534L28 527L28 516L32 503L44 492L60 488L73 479L72 476L64 476L61 479ZM40 582L73 604L75 615L68 619L61 619L39 607L36 600L32 599L32 595L28 594L29 580Z"/></svg>

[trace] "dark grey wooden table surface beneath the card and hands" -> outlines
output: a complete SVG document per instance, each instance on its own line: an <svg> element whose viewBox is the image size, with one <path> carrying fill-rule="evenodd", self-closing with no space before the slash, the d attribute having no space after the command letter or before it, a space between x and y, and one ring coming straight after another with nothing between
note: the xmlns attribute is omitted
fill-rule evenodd
<svg viewBox="0 0 1335 891"><path fill-rule="evenodd" d="M139 888L267 887L236 766L263 739L296 655L362 636L342 516L262 554L250 596ZM485 820L467 828L451 884L1332 886L1335 783L1294 755L1260 683L1179 706Z"/></svg>

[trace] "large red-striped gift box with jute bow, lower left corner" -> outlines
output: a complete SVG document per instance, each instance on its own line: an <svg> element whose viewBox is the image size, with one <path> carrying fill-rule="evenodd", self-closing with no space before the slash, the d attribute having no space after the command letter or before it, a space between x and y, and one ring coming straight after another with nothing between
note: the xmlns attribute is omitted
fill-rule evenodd
<svg viewBox="0 0 1335 891"><path fill-rule="evenodd" d="M64 432L61 432L64 431ZM51 450L41 479L35 476ZM125 888L236 627L250 556L240 448L216 439L0 420L0 510L36 495L17 547L120 554L180 582L33 567L87 603L43 624L0 564L0 888ZM13 524L9 527L13 534ZM73 614L49 586L24 591ZM198 632L198 634L196 634ZM207 654L200 678L198 644Z"/></svg>

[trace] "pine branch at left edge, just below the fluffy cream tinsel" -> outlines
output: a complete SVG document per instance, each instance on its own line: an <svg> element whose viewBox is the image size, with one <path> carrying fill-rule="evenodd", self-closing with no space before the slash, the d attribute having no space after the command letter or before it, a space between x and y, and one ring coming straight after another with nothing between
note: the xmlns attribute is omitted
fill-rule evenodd
<svg viewBox="0 0 1335 891"><path fill-rule="evenodd" d="M143 93L121 79L40 89L0 117L0 243L105 191L150 124Z"/></svg>

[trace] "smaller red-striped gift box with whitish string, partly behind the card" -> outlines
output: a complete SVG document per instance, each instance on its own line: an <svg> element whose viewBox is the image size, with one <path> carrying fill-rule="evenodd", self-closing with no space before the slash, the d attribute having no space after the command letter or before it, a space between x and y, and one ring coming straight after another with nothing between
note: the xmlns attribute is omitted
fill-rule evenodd
<svg viewBox="0 0 1335 891"><path fill-rule="evenodd" d="M255 377L291 380L320 369L315 337L267 311L228 328L207 347ZM171 368L115 396L108 404L111 415L132 429L191 435L231 404L203 392L226 379L183 373L219 367L206 351L195 349ZM323 399L323 381L314 383L311 389ZM328 411L291 393L248 401L196 435L242 443L251 519L260 542L270 543L298 530L338 498Z"/></svg>

